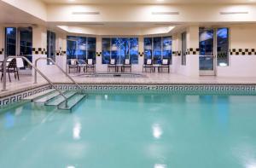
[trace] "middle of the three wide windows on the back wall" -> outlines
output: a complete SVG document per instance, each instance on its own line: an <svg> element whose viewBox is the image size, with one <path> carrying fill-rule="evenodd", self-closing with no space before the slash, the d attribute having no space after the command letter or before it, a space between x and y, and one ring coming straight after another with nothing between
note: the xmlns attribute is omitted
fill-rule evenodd
<svg viewBox="0 0 256 168"><path fill-rule="evenodd" d="M130 59L131 64L138 63L138 38L102 38L102 64L116 59L123 64Z"/></svg>

